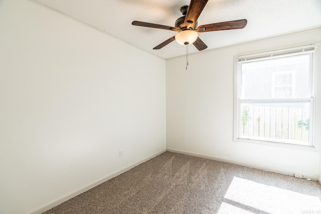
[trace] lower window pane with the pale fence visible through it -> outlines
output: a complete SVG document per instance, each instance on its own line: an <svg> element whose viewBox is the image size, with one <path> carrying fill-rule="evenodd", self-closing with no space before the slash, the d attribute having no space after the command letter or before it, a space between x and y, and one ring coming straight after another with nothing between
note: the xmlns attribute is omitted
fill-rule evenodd
<svg viewBox="0 0 321 214"><path fill-rule="evenodd" d="M307 145L309 121L310 101L242 101L240 138Z"/></svg>

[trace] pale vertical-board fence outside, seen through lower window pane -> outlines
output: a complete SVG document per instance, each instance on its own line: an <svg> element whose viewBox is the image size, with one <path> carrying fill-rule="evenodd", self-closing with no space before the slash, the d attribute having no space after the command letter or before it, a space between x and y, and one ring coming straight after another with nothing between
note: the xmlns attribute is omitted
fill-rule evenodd
<svg viewBox="0 0 321 214"><path fill-rule="evenodd" d="M309 109L243 104L241 136L309 141Z"/></svg>

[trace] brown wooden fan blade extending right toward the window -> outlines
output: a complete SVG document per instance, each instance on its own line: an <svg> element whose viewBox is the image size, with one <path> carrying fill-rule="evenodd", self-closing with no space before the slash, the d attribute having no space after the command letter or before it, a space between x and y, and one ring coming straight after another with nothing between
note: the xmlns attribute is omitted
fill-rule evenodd
<svg viewBox="0 0 321 214"><path fill-rule="evenodd" d="M213 23L208 25L201 25L197 29L205 28L205 31L202 32L209 32L209 31L223 31L223 30L232 30L232 29L241 29L244 28L247 24L247 20L234 20L229 22L220 22L220 23Z"/></svg>

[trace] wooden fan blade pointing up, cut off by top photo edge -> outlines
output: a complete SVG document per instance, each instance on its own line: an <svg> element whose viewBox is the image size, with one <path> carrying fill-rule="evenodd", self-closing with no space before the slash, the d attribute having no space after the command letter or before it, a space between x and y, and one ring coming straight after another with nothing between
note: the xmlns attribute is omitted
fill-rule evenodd
<svg viewBox="0 0 321 214"><path fill-rule="evenodd" d="M191 0L189 9L185 17L185 25L195 29L195 24L200 14L202 13L204 7L206 6L208 0Z"/></svg>

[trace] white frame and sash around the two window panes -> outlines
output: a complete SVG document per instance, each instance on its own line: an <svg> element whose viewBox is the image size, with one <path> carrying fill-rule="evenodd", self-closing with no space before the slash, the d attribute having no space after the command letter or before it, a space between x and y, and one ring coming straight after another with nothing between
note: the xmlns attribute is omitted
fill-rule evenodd
<svg viewBox="0 0 321 214"><path fill-rule="evenodd" d="M278 51L271 51L271 52L264 52L264 53L258 53L258 54L251 54L251 55L243 55L243 56L237 56L234 57L234 141L235 140L245 140L249 142L259 142L259 143L275 143L275 144L283 144L283 145L291 145L291 146L303 146L303 147L311 147L314 148L313 144L313 131L314 131L314 125L313 125L313 115L314 115L314 87L315 87L315 46L314 45L308 45L303 47L296 47L291 49L283 49ZM242 62L247 61L260 61L263 59L275 59L275 58L283 58L283 57L289 57L289 56L298 56L303 54L309 54L310 55L310 71L309 71L309 89L310 89L310 95L309 98L297 98L297 99L240 99L240 92L242 87ZM291 72L291 71L290 71ZM293 79L292 79L293 82ZM292 85L293 87L293 85ZM274 88L272 89L274 90ZM293 91L292 91L293 92ZM308 144L297 144L292 143L289 140L282 141L282 140L266 140L266 139L245 139L241 138L240 129L241 129L241 117L240 117L240 108L242 102L286 102L286 101L297 101L297 102L310 102L310 130L309 130L309 142Z"/></svg>

